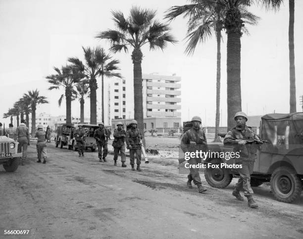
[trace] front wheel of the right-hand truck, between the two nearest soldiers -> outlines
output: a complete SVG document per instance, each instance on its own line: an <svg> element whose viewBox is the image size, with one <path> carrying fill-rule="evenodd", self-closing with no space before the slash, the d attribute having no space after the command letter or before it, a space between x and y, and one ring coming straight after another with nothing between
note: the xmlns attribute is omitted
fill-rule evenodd
<svg viewBox="0 0 303 239"><path fill-rule="evenodd" d="M215 165L220 165L221 160L212 159L210 163ZM210 186L216 188L224 188L228 186L231 180L233 179L233 175L230 174L229 170L225 168L222 169L206 168L204 172L204 177Z"/></svg>

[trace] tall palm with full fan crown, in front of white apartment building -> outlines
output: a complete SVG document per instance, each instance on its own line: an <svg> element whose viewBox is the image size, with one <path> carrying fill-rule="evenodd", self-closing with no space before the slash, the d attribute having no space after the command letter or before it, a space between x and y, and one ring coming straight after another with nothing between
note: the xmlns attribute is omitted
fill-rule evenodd
<svg viewBox="0 0 303 239"><path fill-rule="evenodd" d="M117 30L100 32L96 38L107 39L113 53L133 48L132 60L134 64L134 112L135 119L141 132L143 129L143 96L142 96L142 68L143 54L141 48L149 44L150 50L163 50L167 43L176 43L169 33L169 25L155 20L156 11L133 6L130 16L126 19L121 11L112 11ZM144 135L144 133L143 133ZM143 140L144 141L144 140Z"/></svg>

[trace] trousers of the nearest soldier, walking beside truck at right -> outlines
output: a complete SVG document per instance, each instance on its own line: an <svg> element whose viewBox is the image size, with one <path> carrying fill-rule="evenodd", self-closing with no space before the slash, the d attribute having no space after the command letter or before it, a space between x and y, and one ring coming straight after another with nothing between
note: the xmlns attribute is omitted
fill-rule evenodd
<svg viewBox="0 0 303 239"><path fill-rule="evenodd" d="M243 161L242 169L237 169L240 174L240 179L236 183L236 189L238 191L244 190L244 195L248 196L253 194L253 189L251 187L251 174L253 173L253 161Z"/></svg>

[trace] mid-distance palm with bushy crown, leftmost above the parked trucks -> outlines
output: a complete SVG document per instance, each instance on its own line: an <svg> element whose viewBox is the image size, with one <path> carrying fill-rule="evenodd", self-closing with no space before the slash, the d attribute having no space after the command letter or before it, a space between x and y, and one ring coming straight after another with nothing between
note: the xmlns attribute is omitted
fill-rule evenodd
<svg viewBox="0 0 303 239"><path fill-rule="evenodd" d="M80 82L83 78L82 73L71 65L62 66L61 71L57 67L53 67L56 74L47 76L48 82L53 86L49 87L49 90L60 89L62 87L65 94L62 94L58 100L59 107L65 96L66 100L66 123L71 123L71 102L74 100L73 91L76 83Z"/></svg>

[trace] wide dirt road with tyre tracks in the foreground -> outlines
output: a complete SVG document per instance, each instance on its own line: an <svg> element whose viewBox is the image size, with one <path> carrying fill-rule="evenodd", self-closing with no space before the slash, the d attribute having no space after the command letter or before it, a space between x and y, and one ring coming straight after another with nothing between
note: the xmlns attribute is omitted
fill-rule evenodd
<svg viewBox="0 0 303 239"><path fill-rule="evenodd" d="M258 187L251 209L231 195L234 181L215 189L202 176L201 194L174 166L137 172L113 166L112 155L100 163L97 152L48 151L47 164L36 163L33 143L25 166L0 169L0 237L27 229L30 238L303 238L303 197L280 203Z"/></svg>

